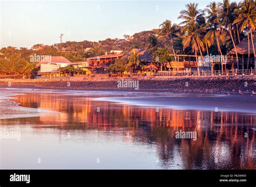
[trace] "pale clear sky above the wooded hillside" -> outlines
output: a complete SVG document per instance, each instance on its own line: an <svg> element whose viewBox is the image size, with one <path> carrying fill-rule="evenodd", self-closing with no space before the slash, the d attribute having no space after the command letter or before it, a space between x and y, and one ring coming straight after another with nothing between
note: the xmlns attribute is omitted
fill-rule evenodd
<svg viewBox="0 0 256 187"><path fill-rule="evenodd" d="M180 23L187 3L204 9L213 0L1 1L0 48L53 45L65 41L123 38L159 28L166 19ZM220 2L220 1L215 1Z"/></svg>

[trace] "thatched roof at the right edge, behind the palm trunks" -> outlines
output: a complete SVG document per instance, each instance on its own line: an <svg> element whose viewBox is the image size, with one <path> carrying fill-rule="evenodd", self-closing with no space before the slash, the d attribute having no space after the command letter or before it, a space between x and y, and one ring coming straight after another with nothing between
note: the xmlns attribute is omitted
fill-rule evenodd
<svg viewBox="0 0 256 187"><path fill-rule="evenodd" d="M254 49L256 49L256 39L253 40L254 43ZM240 44L237 46L237 53L240 55L248 55L248 40L242 40ZM235 49L233 48L230 52L228 52L229 55L235 55ZM253 46L252 41L250 39L250 56L253 55Z"/></svg>

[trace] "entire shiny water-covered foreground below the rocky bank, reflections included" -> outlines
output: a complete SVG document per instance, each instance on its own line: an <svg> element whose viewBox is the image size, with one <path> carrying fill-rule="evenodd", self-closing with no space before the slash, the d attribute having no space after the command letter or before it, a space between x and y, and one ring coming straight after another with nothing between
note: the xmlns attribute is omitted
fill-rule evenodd
<svg viewBox="0 0 256 187"><path fill-rule="evenodd" d="M0 168L256 169L254 98L0 89Z"/></svg>

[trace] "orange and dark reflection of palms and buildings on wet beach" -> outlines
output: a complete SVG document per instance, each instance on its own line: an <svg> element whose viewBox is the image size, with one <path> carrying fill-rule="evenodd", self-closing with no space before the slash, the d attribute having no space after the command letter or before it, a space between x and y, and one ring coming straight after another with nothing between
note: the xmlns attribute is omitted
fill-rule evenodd
<svg viewBox="0 0 256 187"><path fill-rule="evenodd" d="M59 111L59 115L20 120L33 128L95 130L140 145L155 146L161 168L256 169L255 116L237 112L171 110L117 105L83 96L27 93L15 100L25 107ZM196 131L197 140L176 139L176 131ZM173 163L176 163L173 166Z"/></svg>

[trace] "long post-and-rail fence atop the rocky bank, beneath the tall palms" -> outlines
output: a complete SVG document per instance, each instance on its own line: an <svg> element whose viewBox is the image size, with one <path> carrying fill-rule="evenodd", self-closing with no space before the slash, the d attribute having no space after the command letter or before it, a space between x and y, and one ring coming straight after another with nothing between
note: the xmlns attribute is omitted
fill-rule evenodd
<svg viewBox="0 0 256 187"><path fill-rule="evenodd" d="M200 71L158 71L157 76L237 76L237 75L255 75L254 69L244 70L200 70Z"/></svg>

